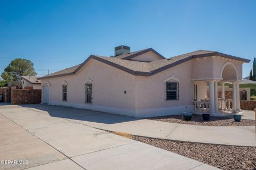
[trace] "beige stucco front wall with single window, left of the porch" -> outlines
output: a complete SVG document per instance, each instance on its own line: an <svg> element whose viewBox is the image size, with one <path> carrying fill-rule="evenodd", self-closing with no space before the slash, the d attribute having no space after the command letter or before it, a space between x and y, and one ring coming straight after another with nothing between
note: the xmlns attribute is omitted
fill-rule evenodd
<svg viewBox="0 0 256 170"><path fill-rule="evenodd" d="M155 109L156 112L151 113L155 116L164 115L168 112L169 114L190 112L194 101L194 84L191 81L191 69L191 61L188 61L150 77L137 76L135 89L137 114L141 113L140 110L146 111L147 109ZM172 75L180 81L179 100L166 100L164 81ZM172 110L171 107L179 109Z"/></svg>

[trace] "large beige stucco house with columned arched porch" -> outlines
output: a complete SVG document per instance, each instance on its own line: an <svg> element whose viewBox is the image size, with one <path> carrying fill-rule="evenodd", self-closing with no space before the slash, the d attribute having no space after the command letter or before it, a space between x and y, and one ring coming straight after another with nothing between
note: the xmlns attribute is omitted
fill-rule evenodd
<svg viewBox="0 0 256 170"><path fill-rule="evenodd" d="M42 103L150 117L182 112L221 113L218 82L233 82L233 112L239 112L242 64L250 60L197 50L165 58L148 48L130 53L115 48L114 57L91 55L82 64L42 80ZM207 96L207 83L210 97ZM238 92L237 92L238 91ZM206 100L206 101L205 101ZM228 105L226 105L228 106ZM226 107L231 112L230 108Z"/></svg>

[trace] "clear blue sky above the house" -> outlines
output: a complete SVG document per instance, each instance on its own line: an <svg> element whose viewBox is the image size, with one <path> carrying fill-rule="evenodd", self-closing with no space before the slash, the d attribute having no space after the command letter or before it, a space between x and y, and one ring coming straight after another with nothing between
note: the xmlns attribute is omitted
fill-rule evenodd
<svg viewBox="0 0 256 170"><path fill-rule="evenodd" d="M3 1L0 72L27 58L39 76L110 56L118 45L165 57L198 49L256 57L256 1ZM249 75L252 62L243 65Z"/></svg>

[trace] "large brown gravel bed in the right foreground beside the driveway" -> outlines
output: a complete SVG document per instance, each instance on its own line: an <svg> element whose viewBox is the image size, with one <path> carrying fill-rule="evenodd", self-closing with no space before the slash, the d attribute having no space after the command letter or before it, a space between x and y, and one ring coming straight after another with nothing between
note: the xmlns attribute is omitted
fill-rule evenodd
<svg viewBox="0 0 256 170"><path fill-rule="evenodd" d="M256 169L256 147L209 145L159 140L132 135L137 140L220 169Z"/></svg>

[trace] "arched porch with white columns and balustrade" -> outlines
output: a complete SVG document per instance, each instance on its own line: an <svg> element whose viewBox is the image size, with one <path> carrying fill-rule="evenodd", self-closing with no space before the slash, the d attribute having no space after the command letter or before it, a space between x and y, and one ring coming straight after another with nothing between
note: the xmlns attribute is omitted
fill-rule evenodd
<svg viewBox="0 0 256 170"><path fill-rule="evenodd" d="M233 99L225 99L225 83L233 84ZM227 62L222 66L220 77L194 80L195 101L194 112L223 115L238 113L240 109L239 80L236 67ZM221 98L218 98L218 85L221 84ZM209 91L209 95L207 95ZM198 93L200 95L198 95Z"/></svg>

